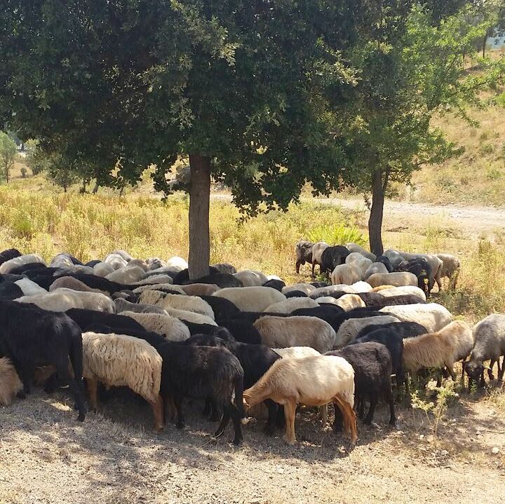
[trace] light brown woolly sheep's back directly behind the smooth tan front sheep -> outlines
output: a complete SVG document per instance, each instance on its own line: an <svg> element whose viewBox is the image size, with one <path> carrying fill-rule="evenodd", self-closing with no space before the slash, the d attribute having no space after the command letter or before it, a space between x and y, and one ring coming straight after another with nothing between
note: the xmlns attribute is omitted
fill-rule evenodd
<svg viewBox="0 0 505 504"><path fill-rule="evenodd" d="M254 326L262 336L262 343L270 348L310 346L324 353L335 346L335 331L319 318L267 315L256 320Z"/></svg>

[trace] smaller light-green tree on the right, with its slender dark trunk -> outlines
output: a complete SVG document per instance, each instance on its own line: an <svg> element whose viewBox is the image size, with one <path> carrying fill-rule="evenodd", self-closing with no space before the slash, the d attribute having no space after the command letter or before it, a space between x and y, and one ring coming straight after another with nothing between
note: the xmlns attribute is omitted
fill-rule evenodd
<svg viewBox="0 0 505 504"><path fill-rule="evenodd" d="M342 172L344 184L370 194L370 247L382 254L384 198L391 182L409 182L412 172L440 163L460 150L433 128L436 114L454 113L470 120L469 104L482 105L478 94L503 79L504 62L480 62L479 73L466 71L464 54L488 22L470 25L465 7L443 20L413 6L402 18L384 9L378 29L363 31L360 45L347 53L360 69L356 97L335 129L346 144L354 170ZM440 14L440 13L438 13Z"/></svg>

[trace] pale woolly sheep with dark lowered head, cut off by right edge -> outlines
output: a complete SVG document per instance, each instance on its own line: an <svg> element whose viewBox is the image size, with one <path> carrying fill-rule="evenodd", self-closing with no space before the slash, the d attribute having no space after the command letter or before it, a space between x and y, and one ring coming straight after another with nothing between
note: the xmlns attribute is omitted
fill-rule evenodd
<svg viewBox="0 0 505 504"><path fill-rule="evenodd" d="M487 369L489 379L494 380L494 362L498 363L498 379L502 380L505 364L500 367L499 357L505 355L505 315L495 313L480 320L473 326L473 341L470 360L464 365L469 376L469 388L479 377L480 386L484 386L484 369ZM483 364L485 360L491 361L489 367Z"/></svg>

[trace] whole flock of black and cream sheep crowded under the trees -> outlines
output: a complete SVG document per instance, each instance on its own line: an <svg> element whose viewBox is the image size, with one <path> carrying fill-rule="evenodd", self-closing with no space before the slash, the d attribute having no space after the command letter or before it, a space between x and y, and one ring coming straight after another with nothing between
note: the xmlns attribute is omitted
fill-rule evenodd
<svg viewBox="0 0 505 504"><path fill-rule="evenodd" d="M373 421L379 400L396 422L398 393L408 374L425 369L454 376L464 361L469 385L490 379L505 355L505 315L489 315L473 330L439 304L427 302L444 276L454 288L459 261L447 254L387 250L375 257L356 244L301 241L296 269L309 262L327 282L285 285L230 264L189 280L180 257L134 259L116 250L103 261L58 254L0 252L0 404L30 393L34 381L51 393L69 386L78 419L98 407L99 386L127 386L152 407L154 426L184 426L182 403L205 403L219 421L231 419L234 443L248 416L265 416L265 432L285 424L296 441L297 406L319 407L323 424L356 442L356 413ZM466 358L470 356L469 361ZM484 362L490 360L490 366ZM83 387L86 381L87 397Z"/></svg>

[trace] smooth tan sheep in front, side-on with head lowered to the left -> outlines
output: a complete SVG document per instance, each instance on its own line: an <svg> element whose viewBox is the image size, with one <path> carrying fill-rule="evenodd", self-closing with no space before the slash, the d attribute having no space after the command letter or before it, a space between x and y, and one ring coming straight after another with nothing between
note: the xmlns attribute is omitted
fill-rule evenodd
<svg viewBox="0 0 505 504"><path fill-rule="evenodd" d="M297 404L335 404L344 416L344 428L351 443L358 439L354 414L354 370L342 357L318 355L302 359L281 359L270 367L254 386L243 393L245 407L271 399L284 405L285 441L296 442Z"/></svg>

